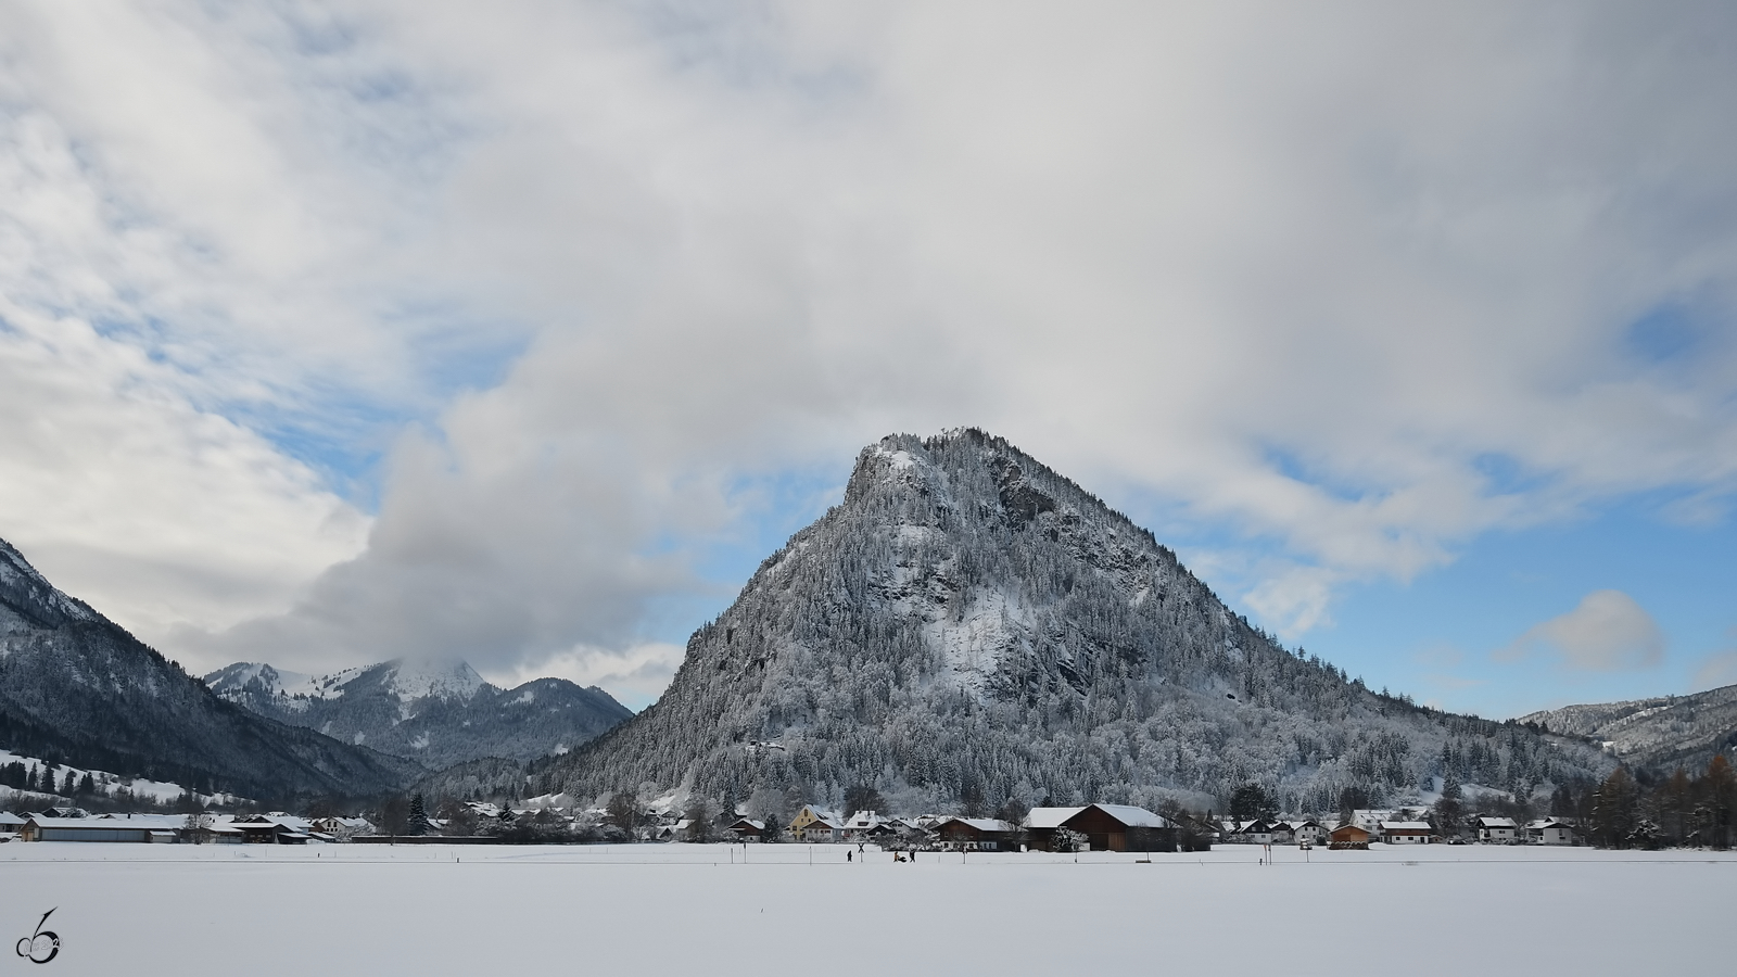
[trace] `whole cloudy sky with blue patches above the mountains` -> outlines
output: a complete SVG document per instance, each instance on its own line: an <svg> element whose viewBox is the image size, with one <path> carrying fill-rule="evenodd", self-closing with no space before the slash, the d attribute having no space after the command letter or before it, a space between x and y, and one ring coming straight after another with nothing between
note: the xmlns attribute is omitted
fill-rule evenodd
<svg viewBox="0 0 1737 977"><path fill-rule="evenodd" d="M1374 687L1737 681L1737 7L0 0L0 537L651 701L974 424Z"/></svg>

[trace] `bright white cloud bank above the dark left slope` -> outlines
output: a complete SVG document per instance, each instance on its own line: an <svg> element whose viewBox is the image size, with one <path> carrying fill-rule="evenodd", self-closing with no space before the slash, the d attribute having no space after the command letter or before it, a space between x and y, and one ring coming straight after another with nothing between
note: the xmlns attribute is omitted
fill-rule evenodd
<svg viewBox="0 0 1737 977"><path fill-rule="evenodd" d="M64 589L163 645L281 614L361 551L367 516L174 370L78 320L0 318L0 535Z"/></svg>

